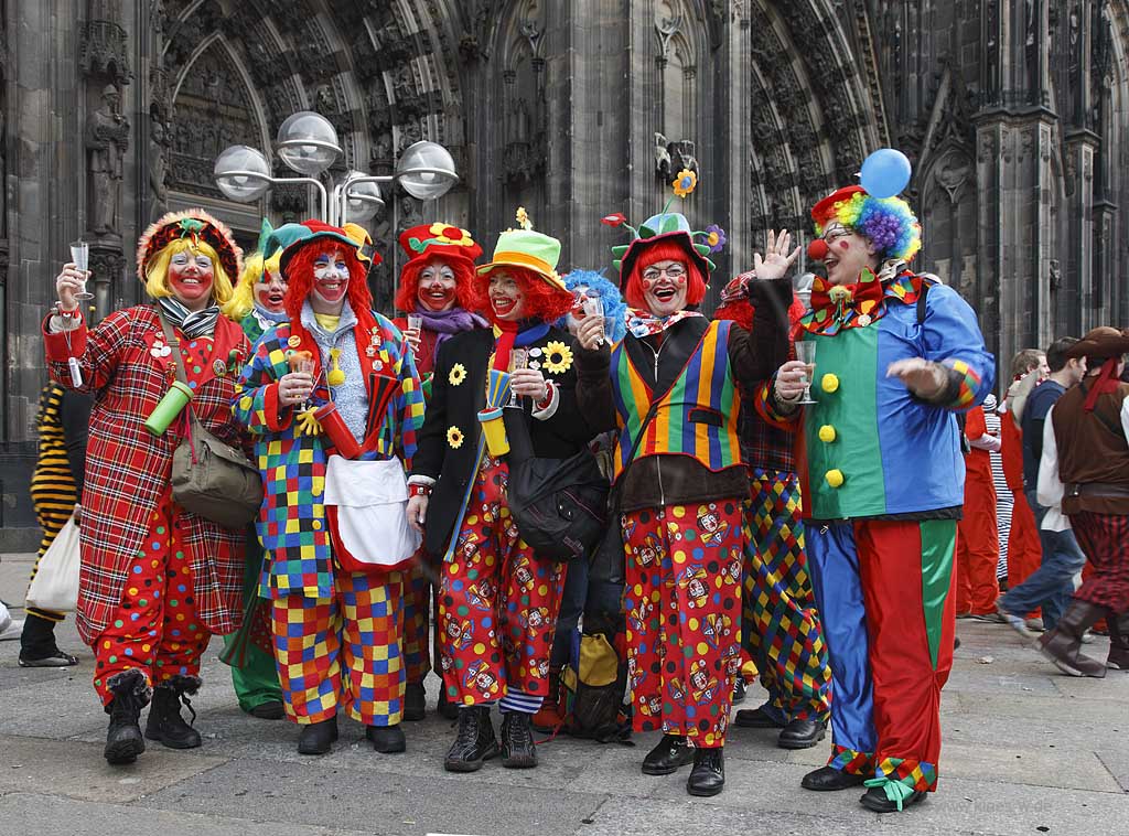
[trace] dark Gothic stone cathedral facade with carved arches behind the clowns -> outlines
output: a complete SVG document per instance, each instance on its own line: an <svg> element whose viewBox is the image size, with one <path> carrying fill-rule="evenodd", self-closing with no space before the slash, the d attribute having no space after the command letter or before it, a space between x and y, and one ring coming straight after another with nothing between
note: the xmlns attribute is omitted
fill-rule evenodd
<svg viewBox="0 0 1129 836"><path fill-rule="evenodd" d="M307 216L304 189L244 206L212 182L229 145L273 159L301 110L338 130L331 175L391 173L419 139L454 155L437 206L396 190L370 224L384 305L397 229L443 219L489 247L524 206L563 268L610 269L598 219L658 211L681 168L701 176L683 211L729 240L716 291L895 146L918 267L1001 366L1129 324L1129 0L0 0L0 26L5 528L34 523L38 329L68 244L90 243L103 315L138 301L134 243L168 209L203 206L248 249L261 216Z"/></svg>

